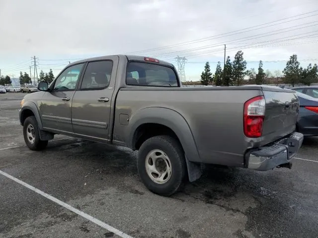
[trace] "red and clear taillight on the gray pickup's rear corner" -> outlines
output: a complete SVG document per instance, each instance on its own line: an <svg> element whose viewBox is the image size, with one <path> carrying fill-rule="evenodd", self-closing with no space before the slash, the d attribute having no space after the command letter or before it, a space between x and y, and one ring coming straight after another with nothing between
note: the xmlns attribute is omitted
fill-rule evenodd
<svg viewBox="0 0 318 238"><path fill-rule="evenodd" d="M260 137L265 116L265 99L257 96L244 104L244 134L247 137Z"/></svg>

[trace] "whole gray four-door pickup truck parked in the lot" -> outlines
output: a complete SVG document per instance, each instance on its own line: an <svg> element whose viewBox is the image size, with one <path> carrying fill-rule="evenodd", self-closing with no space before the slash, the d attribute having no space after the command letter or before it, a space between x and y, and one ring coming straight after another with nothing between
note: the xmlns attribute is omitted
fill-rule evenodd
<svg viewBox="0 0 318 238"><path fill-rule="evenodd" d="M31 150L44 149L55 134L138 150L138 173L160 195L200 178L202 164L291 168L303 142L295 91L182 87L175 67L153 58L80 60L38 89L19 111Z"/></svg>

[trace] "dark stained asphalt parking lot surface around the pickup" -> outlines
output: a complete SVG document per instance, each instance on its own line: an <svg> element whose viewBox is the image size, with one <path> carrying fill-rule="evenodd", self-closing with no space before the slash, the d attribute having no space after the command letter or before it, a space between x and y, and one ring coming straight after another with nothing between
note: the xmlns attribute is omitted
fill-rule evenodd
<svg viewBox="0 0 318 238"><path fill-rule="evenodd" d="M22 97L0 94L0 237L318 237L318 138L305 139L292 170L208 167L161 197L144 187L128 149L58 135L29 150Z"/></svg>

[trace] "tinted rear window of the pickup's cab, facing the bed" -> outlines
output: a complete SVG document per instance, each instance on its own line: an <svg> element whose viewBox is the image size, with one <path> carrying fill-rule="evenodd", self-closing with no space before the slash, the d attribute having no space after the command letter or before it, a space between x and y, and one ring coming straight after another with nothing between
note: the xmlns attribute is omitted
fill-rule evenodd
<svg viewBox="0 0 318 238"><path fill-rule="evenodd" d="M134 86L179 87L172 67L158 63L129 61L126 84Z"/></svg>

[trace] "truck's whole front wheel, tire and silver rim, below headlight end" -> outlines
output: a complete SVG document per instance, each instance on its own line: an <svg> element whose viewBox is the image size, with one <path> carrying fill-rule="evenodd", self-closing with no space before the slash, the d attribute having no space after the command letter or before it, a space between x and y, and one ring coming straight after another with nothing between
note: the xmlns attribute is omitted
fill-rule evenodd
<svg viewBox="0 0 318 238"><path fill-rule="evenodd" d="M48 145L47 140L41 140L38 123L34 116L25 119L23 124L23 137L30 150L43 150Z"/></svg>

